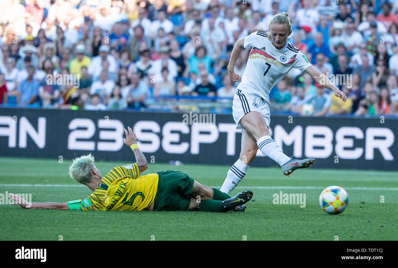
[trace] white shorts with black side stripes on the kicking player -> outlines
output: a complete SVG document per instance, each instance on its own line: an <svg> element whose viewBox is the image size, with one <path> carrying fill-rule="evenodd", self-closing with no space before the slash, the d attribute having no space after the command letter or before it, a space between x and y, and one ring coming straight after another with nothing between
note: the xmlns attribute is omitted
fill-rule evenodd
<svg viewBox="0 0 398 268"><path fill-rule="evenodd" d="M232 103L232 116L234 117L236 123L236 129L244 129L239 121L248 112L261 113L265 123L269 127L269 124L271 123L269 104L264 102L264 100L257 95L249 94L240 89L236 89L234 101Z"/></svg>

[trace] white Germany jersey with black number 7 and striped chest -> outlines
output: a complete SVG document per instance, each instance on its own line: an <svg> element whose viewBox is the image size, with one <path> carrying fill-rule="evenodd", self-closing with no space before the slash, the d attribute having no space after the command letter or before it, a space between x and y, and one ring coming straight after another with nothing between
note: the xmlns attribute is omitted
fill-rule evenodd
<svg viewBox="0 0 398 268"><path fill-rule="evenodd" d="M242 81L237 89L262 98L269 104L269 92L291 68L304 71L311 66L304 54L286 42L282 49L276 49L261 31L245 37L244 48L252 47Z"/></svg>

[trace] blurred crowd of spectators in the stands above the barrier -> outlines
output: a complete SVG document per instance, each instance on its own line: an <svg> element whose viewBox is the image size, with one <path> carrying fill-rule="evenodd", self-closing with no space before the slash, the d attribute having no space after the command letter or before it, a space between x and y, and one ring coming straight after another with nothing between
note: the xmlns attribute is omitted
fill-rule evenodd
<svg viewBox="0 0 398 268"><path fill-rule="evenodd" d="M0 104L142 110L208 100L232 110L234 43L288 12L289 42L348 98L292 69L271 90L271 111L398 115L397 10L392 0L2 0ZM249 52L236 62L240 78Z"/></svg>

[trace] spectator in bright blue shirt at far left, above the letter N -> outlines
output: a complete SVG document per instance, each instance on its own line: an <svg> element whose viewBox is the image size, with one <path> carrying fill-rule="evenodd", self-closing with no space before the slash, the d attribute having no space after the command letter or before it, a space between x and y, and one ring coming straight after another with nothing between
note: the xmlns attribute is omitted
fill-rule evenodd
<svg viewBox="0 0 398 268"><path fill-rule="evenodd" d="M39 81L33 78L35 73L35 67L28 65L26 67L28 77L20 82L18 85L18 96L17 103L20 106L25 106L27 104L33 104L37 100L37 95L39 94Z"/></svg>

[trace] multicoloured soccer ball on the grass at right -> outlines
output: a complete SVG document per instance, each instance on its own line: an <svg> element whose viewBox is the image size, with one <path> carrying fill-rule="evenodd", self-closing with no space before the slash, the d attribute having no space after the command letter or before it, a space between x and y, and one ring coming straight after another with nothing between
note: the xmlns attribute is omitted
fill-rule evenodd
<svg viewBox="0 0 398 268"><path fill-rule="evenodd" d="M348 205L348 194L339 186L329 186L319 196L321 209L328 214L339 214Z"/></svg>

